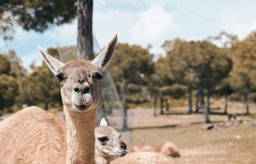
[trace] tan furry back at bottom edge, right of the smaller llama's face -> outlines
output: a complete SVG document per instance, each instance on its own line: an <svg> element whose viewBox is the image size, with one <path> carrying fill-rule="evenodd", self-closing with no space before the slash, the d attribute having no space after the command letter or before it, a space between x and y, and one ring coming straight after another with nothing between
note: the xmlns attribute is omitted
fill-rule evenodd
<svg viewBox="0 0 256 164"><path fill-rule="evenodd" d="M111 164L176 164L170 157L154 152L129 153L122 158L111 161Z"/></svg>

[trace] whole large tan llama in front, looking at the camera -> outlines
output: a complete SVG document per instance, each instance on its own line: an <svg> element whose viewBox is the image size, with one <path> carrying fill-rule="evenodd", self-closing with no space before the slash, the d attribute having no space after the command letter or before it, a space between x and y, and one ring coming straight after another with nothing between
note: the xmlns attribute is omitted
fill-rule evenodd
<svg viewBox="0 0 256 164"><path fill-rule="evenodd" d="M0 163L94 163L98 85L116 41L117 36L92 62L79 59L66 64L38 46L60 83L67 123L38 107L13 114L0 124Z"/></svg>

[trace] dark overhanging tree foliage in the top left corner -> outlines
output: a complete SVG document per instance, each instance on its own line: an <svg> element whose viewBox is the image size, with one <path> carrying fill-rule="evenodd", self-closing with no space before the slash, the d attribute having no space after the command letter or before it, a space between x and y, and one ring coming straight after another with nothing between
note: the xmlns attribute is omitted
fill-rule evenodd
<svg viewBox="0 0 256 164"><path fill-rule="evenodd" d="M51 24L60 25L76 17L75 0L70 1L8 1L0 4L0 35L4 40L12 39L15 24L25 30L43 32Z"/></svg>

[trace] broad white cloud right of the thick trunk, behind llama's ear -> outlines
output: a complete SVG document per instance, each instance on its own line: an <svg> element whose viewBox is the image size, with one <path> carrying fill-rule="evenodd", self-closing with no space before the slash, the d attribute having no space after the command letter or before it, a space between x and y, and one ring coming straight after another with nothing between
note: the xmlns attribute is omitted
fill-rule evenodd
<svg viewBox="0 0 256 164"><path fill-rule="evenodd" d="M175 38L182 28L175 22L175 16L165 11L163 2L151 3L145 11L104 10L93 15L93 33L100 46L106 45L118 34L118 41L147 47L153 45L151 52L159 54L164 40Z"/></svg>

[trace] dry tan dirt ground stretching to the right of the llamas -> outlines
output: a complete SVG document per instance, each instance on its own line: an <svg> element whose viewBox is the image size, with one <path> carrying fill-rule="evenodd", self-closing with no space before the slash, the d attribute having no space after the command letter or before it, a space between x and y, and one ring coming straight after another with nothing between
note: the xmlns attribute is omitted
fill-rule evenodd
<svg viewBox="0 0 256 164"><path fill-rule="evenodd" d="M159 151L166 140L177 144L180 149L179 163L256 163L256 110L252 104L251 115L243 116L243 104L230 103L230 113L238 114L236 123L227 123L227 115L221 114L218 101L212 105L210 116L214 128L202 130L202 114L186 114L188 108L170 108L166 115L153 118L150 109L129 110L129 126L132 131L123 132L123 138L131 145L152 145ZM221 103L220 103L221 104ZM220 105L219 104L219 105ZM156 128L152 128L156 127ZM133 140L131 140L131 133Z"/></svg>

